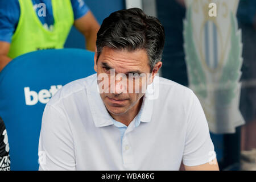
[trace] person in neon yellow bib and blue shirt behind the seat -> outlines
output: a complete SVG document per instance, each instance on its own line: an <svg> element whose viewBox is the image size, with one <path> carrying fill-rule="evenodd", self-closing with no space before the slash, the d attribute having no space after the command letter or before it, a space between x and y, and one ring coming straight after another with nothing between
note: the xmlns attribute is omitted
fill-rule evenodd
<svg viewBox="0 0 256 182"><path fill-rule="evenodd" d="M83 0L0 1L0 71L24 53L63 48L73 25L94 51L100 26Z"/></svg>

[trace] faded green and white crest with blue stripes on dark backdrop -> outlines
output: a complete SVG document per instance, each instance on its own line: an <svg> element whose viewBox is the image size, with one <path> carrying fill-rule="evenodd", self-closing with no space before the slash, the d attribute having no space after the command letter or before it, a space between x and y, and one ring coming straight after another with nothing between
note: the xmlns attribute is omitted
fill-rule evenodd
<svg viewBox="0 0 256 182"><path fill-rule="evenodd" d="M209 3L217 16L209 16ZM204 108L210 131L234 133L245 122L239 101L242 66L241 30L236 12L238 0L187 0L184 49L189 87Z"/></svg>

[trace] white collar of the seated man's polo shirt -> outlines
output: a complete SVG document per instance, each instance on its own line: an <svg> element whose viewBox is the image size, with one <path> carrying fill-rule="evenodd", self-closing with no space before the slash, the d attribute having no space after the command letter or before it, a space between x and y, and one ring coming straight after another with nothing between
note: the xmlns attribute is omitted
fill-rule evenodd
<svg viewBox="0 0 256 182"><path fill-rule="evenodd" d="M93 81L87 87L87 96L89 101L90 111L92 113L93 121L96 127L104 127L113 125L112 118L106 109L104 102L100 97L100 92L98 90L97 84L97 73L94 74ZM142 114L141 114L141 122L150 122L153 111L153 102L154 100L148 99L148 92L146 92L143 96L142 102Z"/></svg>

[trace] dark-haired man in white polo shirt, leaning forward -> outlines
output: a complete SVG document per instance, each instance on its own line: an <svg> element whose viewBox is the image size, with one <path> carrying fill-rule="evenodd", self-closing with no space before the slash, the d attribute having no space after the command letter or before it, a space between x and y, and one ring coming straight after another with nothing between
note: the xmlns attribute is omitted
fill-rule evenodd
<svg viewBox="0 0 256 182"><path fill-rule="evenodd" d="M97 74L65 85L46 105L39 169L218 170L199 100L157 76L163 46L162 24L140 9L106 18Z"/></svg>

